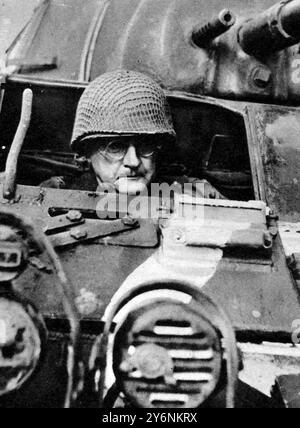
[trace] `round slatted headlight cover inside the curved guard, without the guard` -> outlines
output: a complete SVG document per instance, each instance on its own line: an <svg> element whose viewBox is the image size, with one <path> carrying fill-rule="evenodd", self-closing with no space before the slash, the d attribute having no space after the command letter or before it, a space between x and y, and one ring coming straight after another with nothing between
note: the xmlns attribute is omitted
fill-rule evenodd
<svg viewBox="0 0 300 428"><path fill-rule="evenodd" d="M113 355L118 385L138 407L199 407L220 379L218 332L180 303L154 301L131 312Z"/></svg>

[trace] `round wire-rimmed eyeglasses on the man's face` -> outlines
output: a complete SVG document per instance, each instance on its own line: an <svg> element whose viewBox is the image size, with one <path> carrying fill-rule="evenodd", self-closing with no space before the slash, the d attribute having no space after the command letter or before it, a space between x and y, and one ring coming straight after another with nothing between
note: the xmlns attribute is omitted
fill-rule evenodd
<svg viewBox="0 0 300 428"><path fill-rule="evenodd" d="M141 139L133 142L132 139L126 140L122 138L103 142L100 144L97 152L113 161L121 161L124 159L130 146L134 146L137 157L142 158L151 158L161 149L161 146L153 141Z"/></svg>

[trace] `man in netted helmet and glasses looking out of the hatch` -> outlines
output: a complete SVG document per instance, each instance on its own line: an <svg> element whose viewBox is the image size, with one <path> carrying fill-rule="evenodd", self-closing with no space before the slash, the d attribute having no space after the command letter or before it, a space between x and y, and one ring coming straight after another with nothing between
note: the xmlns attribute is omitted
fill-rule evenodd
<svg viewBox="0 0 300 428"><path fill-rule="evenodd" d="M162 88L142 73L118 70L101 75L82 94L71 148L90 160L98 191L136 195L162 181L160 152L170 147L174 151L175 139ZM209 183L202 183L204 191L197 196L222 197Z"/></svg>

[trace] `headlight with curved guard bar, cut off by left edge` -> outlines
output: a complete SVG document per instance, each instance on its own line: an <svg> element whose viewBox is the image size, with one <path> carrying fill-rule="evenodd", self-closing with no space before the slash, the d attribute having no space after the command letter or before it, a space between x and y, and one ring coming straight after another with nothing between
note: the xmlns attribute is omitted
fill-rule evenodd
<svg viewBox="0 0 300 428"><path fill-rule="evenodd" d="M35 269L38 270L37 275ZM27 279L22 275L24 271L28 273ZM0 397L19 390L26 383L19 394L13 395L12 400L16 399L17 403L22 402L23 391L26 397L32 386L30 380L37 374L38 368L41 369L41 376L36 378L37 386L33 385L37 401L40 396L48 395L44 373L47 371L51 346L49 344L49 349L46 349L45 323L34 304L27 300L29 292L26 290L27 286L32 290L32 285L42 283L43 272L44 275L51 275L70 324L67 378L62 379L60 385L65 390L64 407L68 408L82 391L84 376L79 314L74 303L72 284L67 280L60 260L45 235L15 213L0 211ZM39 292L30 294L33 295L33 301L39 301ZM9 396L8 401L10 399ZM3 397L1 402L4 405L5 401L6 397Z"/></svg>

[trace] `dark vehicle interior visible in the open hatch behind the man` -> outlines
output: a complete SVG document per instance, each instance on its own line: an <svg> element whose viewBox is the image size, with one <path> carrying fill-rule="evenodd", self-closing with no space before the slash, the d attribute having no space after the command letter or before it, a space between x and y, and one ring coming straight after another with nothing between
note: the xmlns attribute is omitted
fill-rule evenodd
<svg viewBox="0 0 300 428"><path fill-rule="evenodd" d="M7 83L1 121L5 126L0 124L2 170L18 125L25 87L21 82L14 82L14 78ZM86 159L74 155L69 148L83 87L47 88L46 103L43 85L31 88L32 119L19 159L17 182L38 186L51 177L67 176L73 189L95 190ZM184 181L185 176L207 179L228 199L254 199L243 117L213 102L191 99L185 94L172 94L169 101L177 142L176 150L174 147L163 149L160 176L166 182L178 177Z"/></svg>

